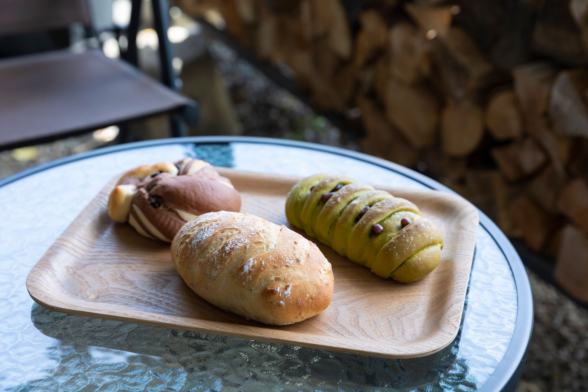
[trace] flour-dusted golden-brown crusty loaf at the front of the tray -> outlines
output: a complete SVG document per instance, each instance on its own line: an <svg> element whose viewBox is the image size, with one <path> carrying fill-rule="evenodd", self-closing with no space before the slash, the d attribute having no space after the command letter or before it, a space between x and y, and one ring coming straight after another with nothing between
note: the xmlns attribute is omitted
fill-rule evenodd
<svg viewBox="0 0 588 392"><path fill-rule="evenodd" d="M315 316L333 294L331 265L318 247L255 215L196 217L174 237L172 261L203 299L266 324Z"/></svg>

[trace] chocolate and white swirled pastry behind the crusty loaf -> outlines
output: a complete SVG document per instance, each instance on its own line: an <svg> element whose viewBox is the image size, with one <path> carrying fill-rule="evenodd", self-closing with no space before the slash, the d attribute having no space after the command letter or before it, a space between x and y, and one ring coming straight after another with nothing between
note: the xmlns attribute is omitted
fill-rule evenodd
<svg viewBox="0 0 588 392"><path fill-rule="evenodd" d="M188 220L206 212L239 212L241 197L208 162L186 158L143 165L122 175L108 199L108 215L145 237L171 242Z"/></svg>

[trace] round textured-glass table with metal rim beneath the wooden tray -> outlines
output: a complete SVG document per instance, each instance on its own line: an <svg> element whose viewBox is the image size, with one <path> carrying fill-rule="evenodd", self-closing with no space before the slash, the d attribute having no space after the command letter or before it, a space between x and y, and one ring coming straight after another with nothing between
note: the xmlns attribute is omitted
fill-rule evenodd
<svg viewBox="0 0 588 392"><path fill-rule="evenodd" d="M381 359L58 313L26 292L31 267L113 176L185 156L216 166L365 182L439 183L348 150L263 138L130 143L0 180L0 387L4 390L513 390L533 324L529 280L483 213L456 339L417 359Z"/></svg>

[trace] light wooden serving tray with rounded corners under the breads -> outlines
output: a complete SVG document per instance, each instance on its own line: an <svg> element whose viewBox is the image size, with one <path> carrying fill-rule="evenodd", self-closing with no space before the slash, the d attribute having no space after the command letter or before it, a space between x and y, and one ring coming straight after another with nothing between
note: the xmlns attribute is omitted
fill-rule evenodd
<svg viewBox="0 0 588 392"><path fill-rule="evenodd" d="M284 205L298 177L218 170L241 193L241 212L292 227ZM315 240L333 265L335 292L330 306L297 324L268 326L201 299L173 268L169 244L112 222L106 200L113 185L114 180L29 273L26 287L42 306L82 316L389 358L426 356L455 339L478 226L475 207L459 196L378 186L412 200L439 226L445 247L437 269L418 282L396 283Z"/></svg>

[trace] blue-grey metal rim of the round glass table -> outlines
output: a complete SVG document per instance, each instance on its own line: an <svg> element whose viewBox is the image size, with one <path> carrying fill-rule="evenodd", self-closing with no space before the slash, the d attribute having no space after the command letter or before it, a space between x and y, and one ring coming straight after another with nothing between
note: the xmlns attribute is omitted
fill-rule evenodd
<svg viewBox="0 0 588 392"><path fill-rule="evenodd" d="M188 143L198 144L213 144L213 143L256 143L265 145L279 145L289 146L295 148L303 148L309 150L318 150L328 152L335 155L346 156L361 160L363 162L371 163L372 165L383 167L384 169L392 170L400 175L409 177L416 182L421 183L431 189L443 190L457 195L456 192L448 187L436 182L425 175L415 172L407 167L397 165L385 159L376 158L374 156L366 155L364 153L346 150L338 147L323 146L309 142L299 142L296 140L272 139L272 138L253 138L248 136L192 136L187 138L173 138L173 139L156 139L146 140L144 142L126 143L123 145L109 146L88 152L79 153L53 160L51 162L43 163L41 165L31 167L30 169L22 170L22 172L15 173L5 179L0 180L0 187L9 185L24 177L34 175L52 167L65 165L66 163L75 162L93 158L99 155L105 155L113 152L121 152L125 150L148 148L161 145L179 145ZM533 329L533 297L531 293L531 286L529 277L524 269L523 262L520 260L519 254L516 252L510 240L507 239L504 233L498 226L482 211L478 209L480 214L480 226L485 229L497 246L504 254L510 270L515 279L515 287L517 293L517 317L515 323L515 330L510 340L509 347L506 349L502 360L495 368L490 377L486 380L479 391L496 391L496 390L514 390L523 370L524 360L526 359L527 350L529 349L529 340L531 331Z"/></svg>

